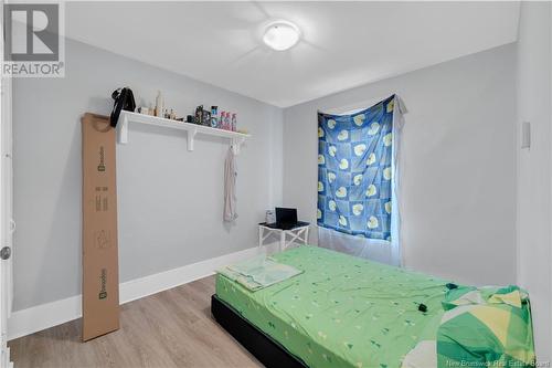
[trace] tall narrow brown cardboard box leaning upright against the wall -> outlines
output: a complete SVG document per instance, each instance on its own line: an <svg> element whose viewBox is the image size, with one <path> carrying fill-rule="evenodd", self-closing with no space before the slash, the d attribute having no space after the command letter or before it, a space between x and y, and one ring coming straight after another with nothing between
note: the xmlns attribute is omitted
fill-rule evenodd
<svg viewBox="0 0 552 368"><path fill-rule="evenodd" d="M119 328L116 132L85 114L83 133L83 341Z"/></svg>

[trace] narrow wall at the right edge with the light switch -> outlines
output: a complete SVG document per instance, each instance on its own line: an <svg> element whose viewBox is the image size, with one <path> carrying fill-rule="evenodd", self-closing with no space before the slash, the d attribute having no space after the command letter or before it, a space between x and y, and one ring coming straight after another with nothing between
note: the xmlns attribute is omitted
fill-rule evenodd
<svg viewBox="0 0 552 368"><path fill-rule="evenodd" d="M552 117L550 2L523 2L518 41L518 119L531 123L531 148L518 155L518 283L531 296L537 357L552 358Z"/></svg>

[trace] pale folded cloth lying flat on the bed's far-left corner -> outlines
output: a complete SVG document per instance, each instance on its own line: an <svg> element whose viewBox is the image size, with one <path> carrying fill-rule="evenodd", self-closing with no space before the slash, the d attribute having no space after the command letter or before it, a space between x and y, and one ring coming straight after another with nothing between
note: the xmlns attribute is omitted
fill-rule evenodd
<svg viewBox="0 0 552 368"><path fill-rule="evenodd" d="M240 283L252 292L265 288L302 273L301 270L278 263L264 255L227 265L216 272Z"/></svg>

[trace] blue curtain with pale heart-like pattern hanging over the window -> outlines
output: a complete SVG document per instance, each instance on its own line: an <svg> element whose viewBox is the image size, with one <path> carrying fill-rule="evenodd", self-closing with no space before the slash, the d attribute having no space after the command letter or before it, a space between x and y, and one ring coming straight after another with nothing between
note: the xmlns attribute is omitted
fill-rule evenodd
<svg viewBox="0 0 552 368"><path fill-rule="evenodd" d="M351 115L318 114L319 227L391 241L395 96Z"/></svg>

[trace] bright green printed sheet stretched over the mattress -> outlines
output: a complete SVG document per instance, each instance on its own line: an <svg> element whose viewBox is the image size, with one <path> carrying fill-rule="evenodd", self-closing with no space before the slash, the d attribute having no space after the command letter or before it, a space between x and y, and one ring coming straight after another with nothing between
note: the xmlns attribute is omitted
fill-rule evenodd
<svg viewBox="0 0 552 368"><path fill-rule="evenodd" d="M448 281L316 246L273 257L305 272L256 292L217 274L216 295L309 367L401 367L436 337Z"/></svg>

